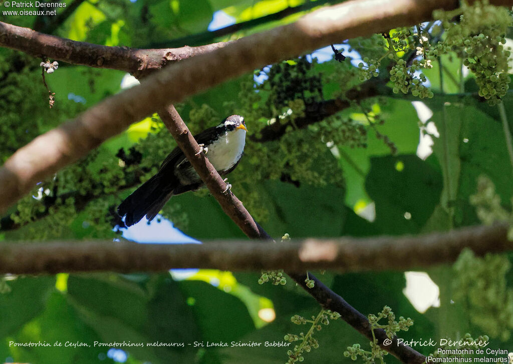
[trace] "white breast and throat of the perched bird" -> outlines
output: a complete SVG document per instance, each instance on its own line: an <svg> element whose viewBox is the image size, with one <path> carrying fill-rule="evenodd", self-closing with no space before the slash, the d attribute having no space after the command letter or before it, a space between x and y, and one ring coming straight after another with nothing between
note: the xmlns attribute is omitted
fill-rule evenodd
<svg viewBox="0 0 513 364"><path fill-rule="evenodd" d="M226 132L208 146L208 160L217 171L227 171L241 158L245 143L246 130Z"/></svg>

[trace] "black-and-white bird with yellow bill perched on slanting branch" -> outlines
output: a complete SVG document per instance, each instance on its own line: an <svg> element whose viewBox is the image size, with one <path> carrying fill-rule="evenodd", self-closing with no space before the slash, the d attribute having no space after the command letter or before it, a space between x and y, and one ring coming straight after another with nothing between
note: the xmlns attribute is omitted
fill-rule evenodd
<svg viewBox="0 0 513 364"><path fill-rule="evenodd" d="M201 147L200 153L208 153L212 166L221 176L225 176L241 160L247 131L244 118L231 115L218 126L205 129L194 138ZM197 191L203 185L182 150L176 147L163 161L159 171L125 198L117 208L117 214L125 217L126 227L138 223L144 216L149 222L172 196Z"/></svg>

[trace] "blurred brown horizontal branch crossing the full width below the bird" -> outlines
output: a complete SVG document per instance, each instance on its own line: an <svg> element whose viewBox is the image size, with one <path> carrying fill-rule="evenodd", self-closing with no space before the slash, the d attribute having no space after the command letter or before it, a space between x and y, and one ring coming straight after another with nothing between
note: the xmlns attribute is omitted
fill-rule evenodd
<svg viewBox="0 0 513 364"><path fill-rule="evenodd" d="M504 225L475 226L424 236L210 241L205 244L134 244L85 241L0 245L0 274L58 272L161 272L173 268L304 272L410 270L476 255L513 250Z"/></svg>

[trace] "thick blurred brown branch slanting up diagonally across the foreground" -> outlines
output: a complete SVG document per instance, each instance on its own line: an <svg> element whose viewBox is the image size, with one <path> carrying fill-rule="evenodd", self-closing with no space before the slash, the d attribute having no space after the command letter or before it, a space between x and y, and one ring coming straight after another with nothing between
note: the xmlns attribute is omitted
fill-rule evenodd
<svg viewBox="0 0 513 364"><path fill-rule="evenodd" d="M511 5L513 0L492 3ZM445 0L345 2L312 12L295 23L250 35L208 54L167 67L145 78L141 85L107 98L72 122L35 138L16 151L0 169L0 214L5 213L38 181L52 176L155 110L279 60L342 39L417 24L430 19L432 11L437 8L453 9L457 6L458 1ZM5 29L5 25L1 29ZM1 29L0 39L10 36Z"/></svg>

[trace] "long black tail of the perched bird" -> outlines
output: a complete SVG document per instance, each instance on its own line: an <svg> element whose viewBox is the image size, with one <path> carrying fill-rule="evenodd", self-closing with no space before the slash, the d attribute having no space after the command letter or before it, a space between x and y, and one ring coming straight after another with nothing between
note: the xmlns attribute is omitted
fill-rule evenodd
<svg viewBox="0 0 513 364"><path fill-rule="evenodd" d="M151 221L173 195L175 184L158 173L136 189L117 208L117 213L125 218L125 225L138 223L145 215Z"/></svg>

